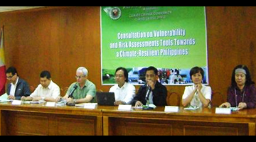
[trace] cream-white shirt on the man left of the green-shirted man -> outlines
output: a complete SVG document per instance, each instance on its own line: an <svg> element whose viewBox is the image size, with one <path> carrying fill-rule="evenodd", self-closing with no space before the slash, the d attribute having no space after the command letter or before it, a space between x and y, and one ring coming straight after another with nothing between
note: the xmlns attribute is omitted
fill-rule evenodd
<svg viewBox="0 0 256 142"><path fill-rule="evenodd" d="M52 80L48 87L44 88L41 84L38 84L35 91L30 95L30 97L53 97L56 99L60 96L60 87L55 84Z"/></svg>

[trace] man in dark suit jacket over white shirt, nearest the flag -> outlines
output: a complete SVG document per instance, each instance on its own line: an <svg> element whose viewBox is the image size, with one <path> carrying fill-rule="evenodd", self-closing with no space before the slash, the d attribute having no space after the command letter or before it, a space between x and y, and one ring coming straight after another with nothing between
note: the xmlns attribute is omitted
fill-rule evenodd
<svg viewBox="0 0 256 142"><path fill-rule="evenodd" d="M6 92L8 99L20 100L22 96L27 97L31 94L28 83L18 77L15 67L9 67L6 70L6 79L9 81Z"/></svg>

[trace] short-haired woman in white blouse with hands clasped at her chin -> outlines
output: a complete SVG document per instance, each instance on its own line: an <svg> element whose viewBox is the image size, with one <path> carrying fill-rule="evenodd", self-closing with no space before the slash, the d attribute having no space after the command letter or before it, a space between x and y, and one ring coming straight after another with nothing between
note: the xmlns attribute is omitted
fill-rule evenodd
<svg viewBox="0 0 256 142"><path fill-rule="evenodd" d="M204 71L201 67L193 67L190 70L193 85L185 87L182 95L183 107L210 107L211 88L202 84Z"/></svg>

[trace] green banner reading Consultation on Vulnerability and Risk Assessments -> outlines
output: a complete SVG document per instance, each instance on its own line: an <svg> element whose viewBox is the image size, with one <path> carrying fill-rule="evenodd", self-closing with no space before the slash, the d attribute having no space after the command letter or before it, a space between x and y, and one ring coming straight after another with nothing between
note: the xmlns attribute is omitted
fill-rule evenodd
<svg viewBox="0 0 256 142"><path fill-rule="evenodd" d="M154 66L163 84L191 84L189 71L202 67L208 84L206 9L203 6L102 6L102 84L126 67L129 82L144 83Z"/></svg>

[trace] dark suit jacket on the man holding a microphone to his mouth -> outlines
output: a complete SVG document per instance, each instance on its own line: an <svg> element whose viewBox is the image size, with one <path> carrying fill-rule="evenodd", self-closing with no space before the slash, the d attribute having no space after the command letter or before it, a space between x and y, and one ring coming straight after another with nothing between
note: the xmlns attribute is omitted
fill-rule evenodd
<svg viewBox="0 0 256 142"><path fill-rule="evenodd" d="M155 88L152 90L152 92L154 105L167 106L167 89L163 84L156 82ZM142 104L146 105L146 84L139 87L139 91L135 95L134 99L132 99L132 105L134 106L137 101L140 101Z"/></svg>

